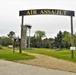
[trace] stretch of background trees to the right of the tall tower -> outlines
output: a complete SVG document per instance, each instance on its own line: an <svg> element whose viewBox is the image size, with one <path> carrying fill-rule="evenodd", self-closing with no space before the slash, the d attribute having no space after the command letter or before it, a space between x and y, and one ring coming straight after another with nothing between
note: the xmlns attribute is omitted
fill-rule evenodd
<svg viewBox="0 0 76 75"><path fill-rule="evenodd" d="M31 47L37 48L70 48L71 47L71 34L67 31L59 31L55 38L45 37L44 31L36 31L35 35L31 37ZM43 39L42 39L43 38ZM76 36L73 35L74 46L76 46Z"/></svg>

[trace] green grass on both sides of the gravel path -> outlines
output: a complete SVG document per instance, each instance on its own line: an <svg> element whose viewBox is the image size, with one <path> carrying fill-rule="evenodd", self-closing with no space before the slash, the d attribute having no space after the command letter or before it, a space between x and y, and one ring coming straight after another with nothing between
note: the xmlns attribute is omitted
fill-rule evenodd
<svg viewBox="0 0 76 75"><path fill-rule="evenodd" d="M47 56L52 56L58 59L76 62L76 51L74 51L74 58L71 58L71 51L69 49L54 50L46 48L35 48L32 50L25 50L25 52L38 53ZM13 49L7 47L3 47L2 49L0 49L0 59L18 61L18 60L29 60L34 58L35 58L34 56L28 55L26 53L20 54L17 51L13 53Z"/></svg>

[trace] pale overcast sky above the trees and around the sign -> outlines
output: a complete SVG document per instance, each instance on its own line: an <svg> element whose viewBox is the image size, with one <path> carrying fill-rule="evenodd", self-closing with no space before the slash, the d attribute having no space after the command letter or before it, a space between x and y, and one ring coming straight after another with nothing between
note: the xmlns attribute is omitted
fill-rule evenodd
<svg viewBox="0 0 76 75"><path fill-rule="evenodd" d="M10 31L14 31L17 36L20 36L21 16L19 16L19 11L28 9L76 11L76 0L0 0L0 36L6 36ZM31 35L34 35L37 30L45 31L47 37L56 36L60 30L71 32L70 16L25 16L25 24L32 26ZM73 17L73 28L75 33L76 17Z"/></svg>

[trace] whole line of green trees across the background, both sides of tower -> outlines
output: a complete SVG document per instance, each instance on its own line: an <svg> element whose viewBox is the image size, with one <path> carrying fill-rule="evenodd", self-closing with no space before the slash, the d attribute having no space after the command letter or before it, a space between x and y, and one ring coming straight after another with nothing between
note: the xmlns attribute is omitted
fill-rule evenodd
<svg viewBox="0 0 76 75"><path fill-rule="evenodd" d="M0 45L8 46L14 43L15 32L10 31L7 37L0 37ZM70 48L71 34L67 31L59 31L55 38L47 38L45 31L36 31L34 36L31 36L30 45L33 48ZM27 36L27 46L29 37ZM76 36L73 35L74 46L76 46ZM18 46L19 42L16 43Z"/></svg>

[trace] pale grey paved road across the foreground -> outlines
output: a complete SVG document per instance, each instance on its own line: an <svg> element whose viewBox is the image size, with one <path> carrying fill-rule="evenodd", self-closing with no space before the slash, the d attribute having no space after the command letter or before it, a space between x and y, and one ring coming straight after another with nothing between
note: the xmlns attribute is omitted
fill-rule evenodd
<svg viewBox="0 0 76 75"><path fill-rule="evenodd" d="M0 75L76 75L76 73L0 60Z"/></svg>

